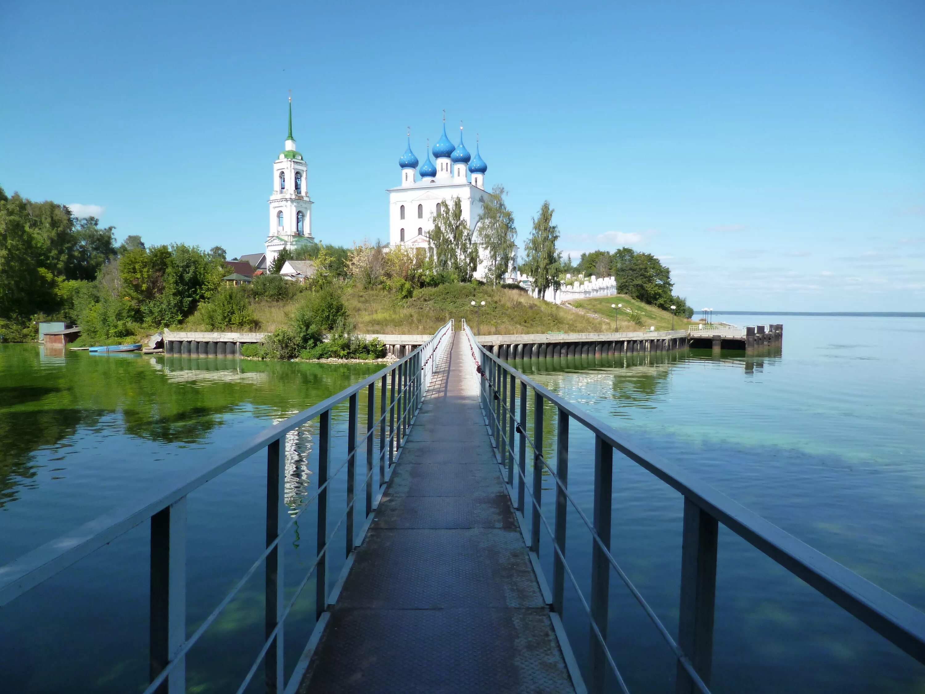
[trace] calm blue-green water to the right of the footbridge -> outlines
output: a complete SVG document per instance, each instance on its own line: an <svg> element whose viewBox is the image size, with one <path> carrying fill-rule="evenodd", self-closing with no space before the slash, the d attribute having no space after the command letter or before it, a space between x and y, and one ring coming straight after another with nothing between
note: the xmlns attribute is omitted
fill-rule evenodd
<svg viewBox="0 0 925 694"><path fill-rule="evenodd" d="M514 364L925 610L925 319L729 320L783 323L783 350L755 358L697 350L627 361ZM554 422L554 413L545 419ZM550 460L554 440L552 432ZM569 488L588 516L593 452L593 439L573 424ZM552 484L546 488L551 525ZM616 454L613 488L614 555L676 633L681 497ZM569 563L589 595L590 540L577 514L568 523ZM551 576L552 552L543 535L540 553ZM717 575L714 691L925 691L925 667L722 526ZM570 592L565 621L583 662L587 621ZM617 578L611 581L610 633L631 691L673 691L672 655Z"/></svg>

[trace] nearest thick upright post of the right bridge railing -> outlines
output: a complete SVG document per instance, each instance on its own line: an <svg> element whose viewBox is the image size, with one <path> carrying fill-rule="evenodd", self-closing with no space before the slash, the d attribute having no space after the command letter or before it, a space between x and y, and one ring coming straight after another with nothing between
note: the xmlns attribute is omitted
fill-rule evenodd
<svg viewBox="0 0 925 694"><path fill-rule="evenodd" d="M713 661L713 603L716 597L716 518L685 497L685 520L681 550L681 611L678 615L678 646L694 670L709 686ZM675 691L697 691L681 663L677 666Z"/></svg>

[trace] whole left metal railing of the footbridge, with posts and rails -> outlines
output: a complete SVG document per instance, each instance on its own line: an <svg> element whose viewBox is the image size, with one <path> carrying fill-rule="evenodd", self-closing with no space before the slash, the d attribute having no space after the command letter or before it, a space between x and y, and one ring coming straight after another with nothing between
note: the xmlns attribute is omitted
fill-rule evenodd
<svg viewBox="0 0 925 694"><path fill-rule="evenodd" d="M266 690L289 694L298 688L308 666L313 642L309 641L296 664L288 683L283 675L283 625L295 601L309 578L315 576L315 633L327 623L327 554L330 541L339 527L346 523L346 556L348 560L355 548L353 506L359 492L365 488L365 518L373 512L373 479L375 438L379 440L379 482L387 479L387 472L411 428L414 415L434 373L438 357L446 349L453 329L450 320L428 341L412 353L390 364L376 374L364 378L350 388L341 390L327 400L317 403L277 425L266 428L234 452L223 452L205 465L203 472L187 477L166 493L154 494L139 502L103 514L93 521L60 538L28 552L19 559L0 566L0 606L13 601L48 578L75 564L133 527L151 519L151 622L150 622L150 685L144 694L180 694L186 691L185 658L193 644L215 622L219 613L238 594L247 580L264 562L265 572L265 641L256 659L238 689L244 691L257 668L265 663ZM376 383L379 383L379 418L376 419ZM358 402L365 390L367 398L366 433L357 440ZM388 402L387 402L388 395ZM348 401L347 456L339 467L331 471L331 411L339 403ZM302 508L291 516L287 513L284 483L286 477L285 441L290 431L317 418L318 473L317 488L306 499ZM356 482L356 460L365 443L366 475L359 488ZM266 450L266 549L257 557L224 599L209 614L191 637L186 636L186 530L187 496L210 479L234 465ZM347 506L333 527L327 526L328 487L341 470L347 468ZM279 542L286 532L305 513L311 502L317 502L317 552L314 564L309 567L301 583L290 598L284 601L283 562ZM349 567L349 563L345 567Z"/></svg>

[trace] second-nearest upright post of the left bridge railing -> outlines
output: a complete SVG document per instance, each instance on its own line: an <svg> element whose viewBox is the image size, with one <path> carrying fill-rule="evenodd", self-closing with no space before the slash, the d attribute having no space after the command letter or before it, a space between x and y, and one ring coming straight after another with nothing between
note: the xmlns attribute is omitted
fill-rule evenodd
<svg viewBox="0 0 925 694"><path fill-rule="evenodd" d="M279 535L286 525L286 435L266 447L266 544ZM277 627L285 607L281 542L266 557L265 638ZM266 691L282 691L283 630L277 631L264 659Z"/></svg>

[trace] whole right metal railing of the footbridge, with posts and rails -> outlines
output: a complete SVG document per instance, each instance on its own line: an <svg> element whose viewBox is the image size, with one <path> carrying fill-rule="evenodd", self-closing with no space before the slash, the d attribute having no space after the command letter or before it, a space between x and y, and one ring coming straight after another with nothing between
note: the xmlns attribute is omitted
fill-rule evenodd
<svg viewBox="0 0 925 694"><path fill-rule="evenodd" d="M758 514L714 490L697 477L672 465L660 456L639 448L623 438L616 429L588 415L563 400L521 372L501 361L482 347L472 331L462 327L468 338L475 369L479 375L481 404L486 413L489 433L498 449L499 463L507 468L507 485L514 499L514 478L517 477L516 511L524 534L526 511L524 494L532 505L529 525L530 552L537 570L540 527L545 527L552 540L552 610L562 612L565 576L573 584L578 600L590 623L592 648L589 653L590 689L605 688L610 669L621 691L628 692L613 655L607 646L609 591L611 569L623 581L639 603L660 636L668 644L677 661L676 691L689 694L700 691L709 694L710 668L713 650L713 604L716 591L716 558L719 524L783 568L808 583L814 589L870 626L883 638L925 663L925 613L857 576L842 564L809 547L807 544L772 525ZM533 437L527 436L527 398L533 390ZM515 401L519 410L515 413ZM543 403L558 412L555 469L543 455ZM588 518L568 490L569 426L572 421L590 430L595 436L593 512ZM518 441L515 446L514 437ZM532 490L526 490L526 452L532 451ZM514 464L514 451L519 453ZM611 491L613 451L642 466L684 497L682 530L680 613L677 638L673 638L659 616L648 605L638 589L611 554ZM541 513L542 477L545 468L555 482L554 527ZM571 504L585 524L591 539L590 599L582 593L572 568L566 562L566 511Z"/></svg>

